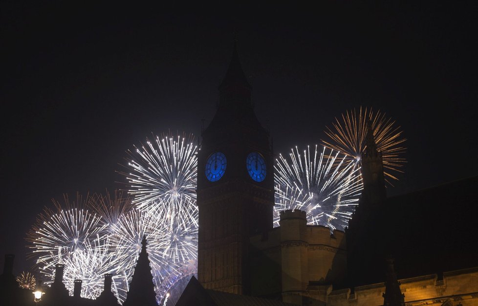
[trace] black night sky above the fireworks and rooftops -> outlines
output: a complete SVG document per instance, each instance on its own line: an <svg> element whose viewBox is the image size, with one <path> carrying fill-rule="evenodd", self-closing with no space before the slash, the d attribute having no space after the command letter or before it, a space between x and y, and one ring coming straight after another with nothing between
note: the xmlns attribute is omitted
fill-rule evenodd
<svg viewBox="0 0 478 306"><path fill-rule="evenodd" d="M407 138L390 196L478 175L476 1L17 2L0 7L0 264L15 253L16 273L33 264L25 233L52 198L125 188L126 151L152 133L197 139L235 31L275 153L320 143L363 106Z"/></svg>

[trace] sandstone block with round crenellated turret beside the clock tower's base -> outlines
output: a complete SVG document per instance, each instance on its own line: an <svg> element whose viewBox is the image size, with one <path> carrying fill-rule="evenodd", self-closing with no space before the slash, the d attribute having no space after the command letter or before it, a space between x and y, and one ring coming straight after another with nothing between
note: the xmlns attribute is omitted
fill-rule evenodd
<svg viewBox="0 0 478 306"><path fill-rule="evenodd" d="M318 298L324 284L345 281L344 232L331 234L327 227L306 225L300 210L282 212L280 225L250 239L252 295L303 305L304 300Z"/></svg>

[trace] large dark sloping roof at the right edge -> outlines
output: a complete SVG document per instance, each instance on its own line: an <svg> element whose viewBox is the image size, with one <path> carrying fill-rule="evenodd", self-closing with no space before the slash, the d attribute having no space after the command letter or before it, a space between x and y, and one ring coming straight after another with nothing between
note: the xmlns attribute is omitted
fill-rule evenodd
<svg viewBox="0 0 478 306"><path fill-rule="evenodd" d="M387 256L399 278L478 266L477 190L474 176L387 198L357 229L354 284L383 282Z"/></svg>

